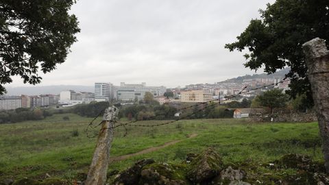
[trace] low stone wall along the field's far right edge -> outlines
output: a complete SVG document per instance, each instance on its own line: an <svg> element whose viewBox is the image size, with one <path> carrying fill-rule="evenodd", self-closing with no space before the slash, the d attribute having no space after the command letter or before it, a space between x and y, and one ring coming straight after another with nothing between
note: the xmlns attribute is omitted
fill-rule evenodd
<svg viewBox="0 0 329 185"><path fill-rule="evenodd" d="M258 114L250 115L252 122L314 122L317 121L315 113L290 113L290 114Z"/></svg>

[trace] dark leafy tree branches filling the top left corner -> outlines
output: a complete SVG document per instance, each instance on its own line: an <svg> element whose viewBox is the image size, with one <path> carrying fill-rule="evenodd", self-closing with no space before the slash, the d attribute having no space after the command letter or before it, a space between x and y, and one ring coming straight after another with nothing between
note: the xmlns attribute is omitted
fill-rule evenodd
<svg viewBox="0 0 329 185"><path fill-rule="evenodd" d="M3 0L0 3L0 95L3 84L18 75L38 84L40 71L48 73L65 61L80 32L69 14L75 0Z"/></svg>

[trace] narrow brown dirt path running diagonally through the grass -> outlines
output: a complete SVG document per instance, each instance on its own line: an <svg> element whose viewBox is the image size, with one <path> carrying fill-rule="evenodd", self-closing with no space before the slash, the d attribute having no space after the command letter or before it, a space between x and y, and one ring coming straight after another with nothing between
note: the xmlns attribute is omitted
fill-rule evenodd
<svg viewBox="0 0 329 185"><path fill-rule="evenodd" d="M188 138L195 138L197 136L197 134L191 134L188 136ZM124 156L117 156L117 157L110 157L110 162L117 162L117 161L120 161L120 160L125 160L127 158L130 158L132 156L138 156L138 155L141 155L141 154L145 154L145 153L149 153L149 152L152 152L152 151L157 151L159 149L163 149L164 147L169 147L170 145L175 145L176 143L180 143L181 141L183 141L184 139L182 140L173 140L173 141L169 141L167 143L164 143L164 145L161 145L159 147L151 147L151 148L148 148L148 149L143 149L142 151L138 151L136 153L130 153L130 154L127 154L127 155L124 155Z"/></svg>

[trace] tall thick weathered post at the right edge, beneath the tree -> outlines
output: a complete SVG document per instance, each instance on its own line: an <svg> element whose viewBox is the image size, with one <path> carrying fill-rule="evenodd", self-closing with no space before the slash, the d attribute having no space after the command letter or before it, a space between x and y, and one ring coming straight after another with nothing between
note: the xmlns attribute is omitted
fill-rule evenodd
<svg viewBox="0 0 329 185"><path fill-rule="evenodd" d="M329 173L329 51L325 40L320 38L304 43L303 49L317 111L324 165Z"/></svg>

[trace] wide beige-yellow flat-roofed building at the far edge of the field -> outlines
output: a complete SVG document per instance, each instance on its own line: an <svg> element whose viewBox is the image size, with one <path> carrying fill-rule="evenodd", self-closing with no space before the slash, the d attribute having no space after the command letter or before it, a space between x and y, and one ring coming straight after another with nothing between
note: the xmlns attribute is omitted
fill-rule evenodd
<svg viewBox="0 0 329 185"><path fill-rule="evenodd" d="M198 103L212 100L212 94L204 90L188 90L180 94L182 95L182 102Z"/></svg>

